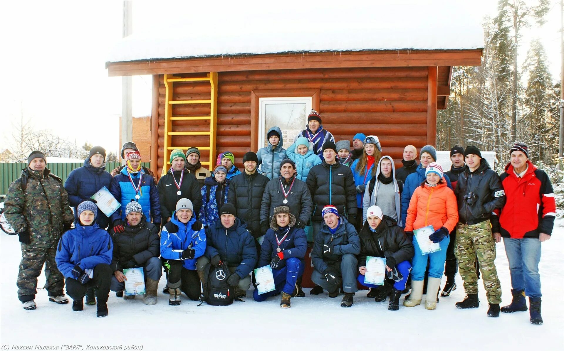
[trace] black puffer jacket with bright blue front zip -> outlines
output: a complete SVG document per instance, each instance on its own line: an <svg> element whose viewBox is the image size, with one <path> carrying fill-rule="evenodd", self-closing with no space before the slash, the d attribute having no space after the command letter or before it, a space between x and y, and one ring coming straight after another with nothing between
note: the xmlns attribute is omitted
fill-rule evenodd
<svg viewBox="0 0 564 351"><path fill-rule="evenodd" d="M340 215L356 216L356 189L349 167L339 162L328 165L324 160L311 168L306 183L314 202L314 221L323 221L321 210L326 205L337 207Z"/></svg>

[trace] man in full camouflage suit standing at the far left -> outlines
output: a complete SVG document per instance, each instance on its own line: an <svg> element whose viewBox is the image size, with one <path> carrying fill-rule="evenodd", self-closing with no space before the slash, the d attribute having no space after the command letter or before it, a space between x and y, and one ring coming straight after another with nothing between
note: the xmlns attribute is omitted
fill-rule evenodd
<svg viewBox="0 0 564 351"><path fill-rule="evenodd" d="M21 242L17 295L24 309L36 309L33 300L43 264L49 300L68 303L63 295L64 279L55 263L55 250L74 217L62 180L46 168L42 152L29 155L28 167L10 184L4 206L6 219Z"/></svg>

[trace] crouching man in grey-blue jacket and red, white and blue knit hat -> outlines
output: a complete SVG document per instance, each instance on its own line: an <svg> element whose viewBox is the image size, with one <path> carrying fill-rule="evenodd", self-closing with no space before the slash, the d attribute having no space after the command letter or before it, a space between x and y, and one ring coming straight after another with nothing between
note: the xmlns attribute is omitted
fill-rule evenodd
<svg viewBox="0 0 564 351"><path fill-rule="evenodd" d="M315 233L311 261L314 272L311 281L329 292L329 297L339 295L342 283L345 296L342 307L352 306L352 296L356 287L356 256L360 253L360 239L354 225L340 216L333 205L321 211L325 223L319 233Z"/></svg>

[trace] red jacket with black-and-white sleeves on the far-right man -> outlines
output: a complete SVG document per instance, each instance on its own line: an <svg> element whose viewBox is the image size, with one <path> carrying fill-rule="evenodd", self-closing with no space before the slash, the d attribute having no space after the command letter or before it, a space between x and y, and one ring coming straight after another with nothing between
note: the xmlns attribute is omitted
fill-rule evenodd
<svg viewBox="0 0 564 351"><path fill-rule="evenodd" d="M507 201L501 210L495 210L500 228L494 225L492 230L505 238L538 238L540 233L552 234L556 217L552 184L547 174L531 161L527 160L527 165L522 178L515 175L511 163L505 166L505 173L500 177Z"/></svg>

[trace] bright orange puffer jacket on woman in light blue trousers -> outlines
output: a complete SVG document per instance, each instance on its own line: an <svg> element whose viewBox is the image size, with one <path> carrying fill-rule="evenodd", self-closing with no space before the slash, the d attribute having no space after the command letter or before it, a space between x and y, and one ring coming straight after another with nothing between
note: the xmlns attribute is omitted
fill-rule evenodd
<svg viewBox="0 0 564 351"><path fill-rule="evenodd" d="M437 186L417 186L407 208L406 232L433 225L435 230L444 226L450 233L457 223L456 196L444 177Z"/></svg>

